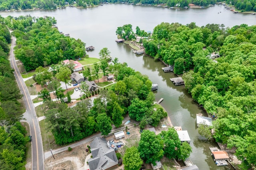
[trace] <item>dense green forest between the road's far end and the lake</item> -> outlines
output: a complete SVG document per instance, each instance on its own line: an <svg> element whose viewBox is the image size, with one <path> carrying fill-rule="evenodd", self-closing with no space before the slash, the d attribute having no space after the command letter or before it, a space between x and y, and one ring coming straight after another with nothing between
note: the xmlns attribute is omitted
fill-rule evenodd
<svg viewBox="0 0 256 170"><path fill-rule="evenodd" d="M4 22L15 29L15 56L22 61L26 71L39 66L56 64L65 59L78 59L86 56L85 43L60 34L55 18L35 18L8 16Z"/></svg>

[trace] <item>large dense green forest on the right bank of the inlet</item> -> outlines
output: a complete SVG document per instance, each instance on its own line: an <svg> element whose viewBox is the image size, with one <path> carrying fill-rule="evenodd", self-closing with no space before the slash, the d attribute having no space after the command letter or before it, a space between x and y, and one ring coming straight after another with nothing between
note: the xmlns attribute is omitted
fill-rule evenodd
<svg viewBox="0 0 256 170"><path fill-rule="evenodd" d="M151 38L143 41L146 53L174 65L174 73L184 73L192 98L217 118L212 137L235 147L241 166L254 166L256 26L162 23Z"/></svg>

